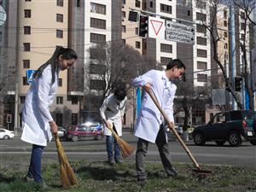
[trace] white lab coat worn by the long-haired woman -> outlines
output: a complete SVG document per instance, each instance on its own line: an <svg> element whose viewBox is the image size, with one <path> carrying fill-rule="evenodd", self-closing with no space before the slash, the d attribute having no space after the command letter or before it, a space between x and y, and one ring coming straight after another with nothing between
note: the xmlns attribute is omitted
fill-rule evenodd
<svg viewBox="0 0 256 192"><path fill-rule="evenodd" d="M59 73L59 72L58 72ZM51 66L44 68L42 76L34 79L27 91L26 101L22 108L22 136L21 140L40 146L46 146L52 138L49 121L53 120L49 113L49 106L55 99L58 85L58 73L55 83L51 83Z"/></svg>

